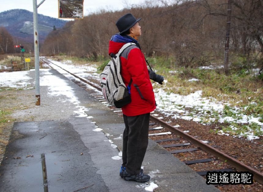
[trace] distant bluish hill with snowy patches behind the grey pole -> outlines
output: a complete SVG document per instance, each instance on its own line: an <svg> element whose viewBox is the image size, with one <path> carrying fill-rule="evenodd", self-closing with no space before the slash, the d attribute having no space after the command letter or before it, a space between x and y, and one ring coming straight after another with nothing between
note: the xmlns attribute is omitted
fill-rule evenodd
<svg viewBox="0 0 263 192"><path fill-rule="evenodd" d="M43 42L46 36L53 30L53 26L61 28L67 21L38 14L39 41ZM15 38L27 42L34 41L33 12L24 9L12 9L0 12L0 26L6 27Z"/></svg>

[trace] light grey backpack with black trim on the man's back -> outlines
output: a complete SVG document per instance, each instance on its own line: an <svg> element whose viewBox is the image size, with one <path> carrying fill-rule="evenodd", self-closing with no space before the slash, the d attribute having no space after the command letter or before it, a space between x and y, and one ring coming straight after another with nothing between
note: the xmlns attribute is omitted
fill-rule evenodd
<svg viewBox="0 0 263 192"><path fill-rule="evenodd" d="M116 108L122 108L131 102L130 96L130 81L128 88L125 86L121 72L121 62L120 55L122 52L131 45L136 45L135 43L126 43L122 46L120 51L115 55L111 53L111 60L108 65L104 68L103 72L100 74L100 82L102 94L105 100L112 106Z"/></svg>

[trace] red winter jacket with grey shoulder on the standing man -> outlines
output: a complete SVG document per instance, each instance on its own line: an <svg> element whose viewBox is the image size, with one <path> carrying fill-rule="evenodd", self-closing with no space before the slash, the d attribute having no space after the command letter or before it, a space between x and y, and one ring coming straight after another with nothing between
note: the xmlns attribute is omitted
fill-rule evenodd
<svg viewBox="0 0 263 192"><path fill-rule="evenodd" d="M118 53L125 43L109 41L109 55ZM152 112L155 108L154 91L143 53L136 45L126 48L121 54L121 75L124 83L131 84L131 103L122 107L126 116Z"/></svg>

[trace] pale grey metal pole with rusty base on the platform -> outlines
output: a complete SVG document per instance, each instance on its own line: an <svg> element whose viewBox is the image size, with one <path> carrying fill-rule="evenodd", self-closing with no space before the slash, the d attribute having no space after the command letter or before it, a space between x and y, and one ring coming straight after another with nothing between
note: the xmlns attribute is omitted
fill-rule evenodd
<svg viewBox="0 0 263 192"><path fill-rule="evenodd" d="M41 1L37 5L37 0L33 0L33 16L34 16L34 45L35 45L35 105L40 105L39 90L39 37L38 37L38 15L37 8L44 2Z"/></svg>

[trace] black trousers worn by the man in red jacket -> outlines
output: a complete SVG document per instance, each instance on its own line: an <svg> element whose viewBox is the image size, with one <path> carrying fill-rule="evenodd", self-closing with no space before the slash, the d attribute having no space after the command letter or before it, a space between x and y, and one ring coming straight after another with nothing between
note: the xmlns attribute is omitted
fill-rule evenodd
<svg viewBox="0 0 263 192"><path fill-rule="evenodd" d="M148 146L150 113L138 116L123 115L125 129L123 132L122 166L129 174L137 175L143 163Z"/></svg>

